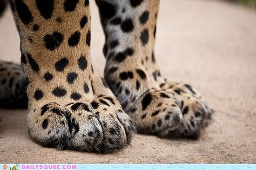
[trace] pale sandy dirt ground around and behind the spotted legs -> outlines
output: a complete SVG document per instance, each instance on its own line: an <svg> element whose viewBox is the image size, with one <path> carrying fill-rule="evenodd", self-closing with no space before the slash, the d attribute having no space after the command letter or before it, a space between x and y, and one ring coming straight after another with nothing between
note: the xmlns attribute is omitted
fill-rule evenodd
<svg viewBox="0 0 256 170"><path fill-rule="evenodd" d="M95 1L92 60L103 74L104 43ZM32 142L26 110L0 110L0 163L256 163L256 11L223 1L161 0L157 43L161 73L192 84L215 110L199 140L136 134L114 154L57 151ZM19 63L10 10L0 20L0 59Z"/></svg>

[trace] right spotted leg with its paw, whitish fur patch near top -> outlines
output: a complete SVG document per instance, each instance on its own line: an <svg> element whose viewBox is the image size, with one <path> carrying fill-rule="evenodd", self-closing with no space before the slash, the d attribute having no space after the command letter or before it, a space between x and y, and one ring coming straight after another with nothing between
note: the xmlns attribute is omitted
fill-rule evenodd
<svg viewBox="0 0 256 170"><path fill-rule="evenodd" d="M177 93L161 77L154 55L159 0L96 2L106 38L105 80L138 131L197 138L210 110L190 88L177 86L184 89Z"/></svg>

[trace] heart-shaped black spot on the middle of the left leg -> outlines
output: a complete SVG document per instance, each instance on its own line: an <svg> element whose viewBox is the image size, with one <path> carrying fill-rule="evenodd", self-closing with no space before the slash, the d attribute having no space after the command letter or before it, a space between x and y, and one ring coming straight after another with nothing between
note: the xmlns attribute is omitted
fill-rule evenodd
<svg viewBox="0 0 256 170"><path fill-rule="evenodd" d="M53 32L52 35L45 35L44 42L47 49L55 50L63 41L63 35L57 31Z"/></svg>

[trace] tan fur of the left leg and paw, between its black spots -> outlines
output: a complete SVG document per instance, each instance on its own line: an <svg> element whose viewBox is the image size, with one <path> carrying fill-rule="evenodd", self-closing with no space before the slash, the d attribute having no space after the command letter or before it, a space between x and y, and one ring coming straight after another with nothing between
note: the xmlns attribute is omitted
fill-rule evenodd
<svg viewBox="0 0 256 170"><path fill-rule="evenodd" d="M92 70L90 46L86 43L90 32L89 6L79 1L74 11L64 11L64 1L55 1L51 18L45 19L39 13L36 1L24 3L32 13L33 22L23 24L18 13L13 12L21 35L21 51L26 58L22 66L30 82L27 92L31 137L45 146L96 152L111 152L129 143L132 121L122 111L111 90L103 85L103 79ZM82 28L79 23L83 16L87 17L87 23ZM56 22L57 18L61 21ZM34 24L39 25L37 31L32 30ZM51 50L46 47L44 39L55 31L63 35L63 40ZM70 46L69 38L76 31L80 32L79 43ZM38 64L39 71L33 70L29 56ZM78 64L81 56L86 58L84 70ZM68 60L68 64L62 71L56 70L56 63L63 58ZM51 80L44 78L46 72L52 74ZM77 78L69 83L68 74L72 72L77 74ZM85 83L89 92L84 90ZM56 87L64 89L66 94L53 95ZM40 99L35 97L38 90L43 92ZM79 93L80 98L73 99L72 93ZM75 106L77 108L73 109Z"/></svg>

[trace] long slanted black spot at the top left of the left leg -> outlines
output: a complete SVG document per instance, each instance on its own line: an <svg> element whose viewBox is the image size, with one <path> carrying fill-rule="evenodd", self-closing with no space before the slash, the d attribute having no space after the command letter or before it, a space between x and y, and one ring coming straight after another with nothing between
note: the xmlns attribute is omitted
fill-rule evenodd
<svg viewBox="0 0 256 170"><path fill-rule="evenodd" d="M27 25L33 21L32 13L30 12L28 6L23 2L23 0L15 0L15 6L18 12L18 16Z"/></svg>

